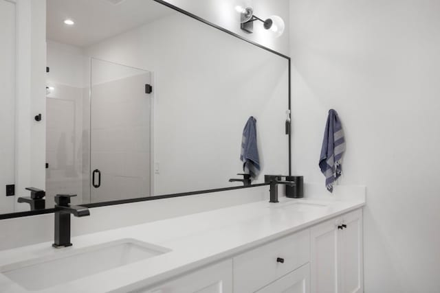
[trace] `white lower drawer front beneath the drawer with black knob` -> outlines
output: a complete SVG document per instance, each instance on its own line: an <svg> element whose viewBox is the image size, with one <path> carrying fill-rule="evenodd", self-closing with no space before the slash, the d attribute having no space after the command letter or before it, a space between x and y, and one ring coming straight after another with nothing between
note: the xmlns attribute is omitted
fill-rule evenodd
<svg viewBox="0 0 440 293"><path fill-rule="evenodd" d="M310 292L310 265L286 274L284 277L267 285L257 293L309 293Z"/></svg>

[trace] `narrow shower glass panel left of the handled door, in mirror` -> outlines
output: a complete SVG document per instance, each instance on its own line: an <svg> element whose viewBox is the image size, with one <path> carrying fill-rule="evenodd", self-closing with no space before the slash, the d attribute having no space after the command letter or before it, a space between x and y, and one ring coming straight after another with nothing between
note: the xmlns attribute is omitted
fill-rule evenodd
<svg viewBox="0 0 440 293"><path fill-rule="evenodd" d="M56 194L76 194L74 204L87 202L83 194L83 89L51 83L46 96L46 202ZM88 139L86 141L89 141Z"/></svg>

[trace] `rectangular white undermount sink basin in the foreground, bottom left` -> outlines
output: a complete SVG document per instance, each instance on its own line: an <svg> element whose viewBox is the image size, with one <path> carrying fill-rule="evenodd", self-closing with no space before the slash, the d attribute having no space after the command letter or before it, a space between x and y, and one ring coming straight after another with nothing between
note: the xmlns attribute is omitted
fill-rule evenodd
<svg viewBox="0 0 440 293"><path fill-rule="evenodd" d="M120 239L12 263L0 272L27 290L43 290L170 251L135 239Z"/></svg>

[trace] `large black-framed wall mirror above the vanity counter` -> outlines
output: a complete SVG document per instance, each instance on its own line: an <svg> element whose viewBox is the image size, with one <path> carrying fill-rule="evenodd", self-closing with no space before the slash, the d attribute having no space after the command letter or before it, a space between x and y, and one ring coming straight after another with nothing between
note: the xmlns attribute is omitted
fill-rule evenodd
<svg viewBox="0 0 440 293"><path fill-rule="evenodd" d="M39 187L46 208L56 194L90 204L240 187L229 179L243 173L242 133L251 116L261 161L252 184L264 183L264 174L288 174L285 56L161 1L47 0L46 17L46 168ZM7 39L11 32L0 34ZM0 108L3 117L11 105ZM3 137L20 131L5 124L0 130ZM14 146L1 151L5 161ZM1 176L0 183L13 184ZM29 194L16 190L14 201L20 196ZM17 203L2 208L16 210Z"/></svg>

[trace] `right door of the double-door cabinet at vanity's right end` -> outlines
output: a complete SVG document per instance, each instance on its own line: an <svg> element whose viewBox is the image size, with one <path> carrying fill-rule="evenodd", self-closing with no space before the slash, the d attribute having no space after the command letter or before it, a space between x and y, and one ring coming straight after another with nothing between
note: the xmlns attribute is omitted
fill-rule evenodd
<svg viewBox="0 0 440 293"><path fill-rule="evenodd" d="M362 292L362 210L342 216L340 233L341 292Z"/></svg>

